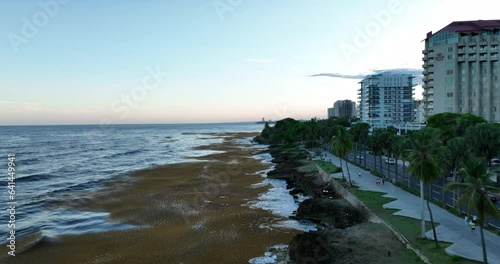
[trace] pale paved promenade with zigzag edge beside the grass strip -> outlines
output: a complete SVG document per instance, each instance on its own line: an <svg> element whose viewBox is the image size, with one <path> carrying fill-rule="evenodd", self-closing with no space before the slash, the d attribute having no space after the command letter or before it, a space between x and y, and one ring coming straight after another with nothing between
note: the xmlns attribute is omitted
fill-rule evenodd
<svg viewBox="0 0 500 264"><path fill-rule="evenodd" d="M340 167L338 157L328 152L323 152L323 155L326 155L326 159L331 160L335 166ZM345 167L345 163L343 165ZM400 209L401 211L397 211L394 214L420 219L420 197L406 192L387 181L384 185L380 184L377 186L375 184L376 176L351 163L349 163L349 171L351 179L355 181L355 184L361 190L385 192L386 194L383 197L397 199L384 204L384 208ZM358 176L359 172L361 172L361 177ZM332 174L332 176L342 178L341 173ZM450 255L457 255L482 262L483 253L479 228L476 229L476 234L472 234L470 228L465 226L463 218L459 218L434 204L431 204L431 209L434 221L439 223L439 226L436 228L438 240L453 243L445 251ZM425 208L425 217L429 221L427 208ZM429 239L434 239L432 229L426 233L426 236ZM488 262L500 263L500 237L488 230L484 230L484 237L488 251Z"/></svg>

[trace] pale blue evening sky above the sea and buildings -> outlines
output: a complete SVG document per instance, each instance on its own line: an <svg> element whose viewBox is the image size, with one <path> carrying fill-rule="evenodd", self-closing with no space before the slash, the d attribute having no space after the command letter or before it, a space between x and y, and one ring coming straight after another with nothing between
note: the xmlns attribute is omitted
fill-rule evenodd
<svg viewBox="0 0 500 264"><path fill-rule="evenodd" d="M0 125L326 118L363 76L421 98L427 32L496 0L0 0Z"/></svg>

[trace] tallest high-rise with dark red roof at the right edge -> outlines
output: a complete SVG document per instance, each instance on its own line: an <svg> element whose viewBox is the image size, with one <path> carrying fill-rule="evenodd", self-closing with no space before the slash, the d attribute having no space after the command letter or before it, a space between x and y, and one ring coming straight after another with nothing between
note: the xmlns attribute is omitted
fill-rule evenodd
<svg viewBox="0 0 500 264"><path fill-rule="evenodd" d="M471 113L500 122L500 20L456 21L429 32L423 51L425 116Z"/></svg>

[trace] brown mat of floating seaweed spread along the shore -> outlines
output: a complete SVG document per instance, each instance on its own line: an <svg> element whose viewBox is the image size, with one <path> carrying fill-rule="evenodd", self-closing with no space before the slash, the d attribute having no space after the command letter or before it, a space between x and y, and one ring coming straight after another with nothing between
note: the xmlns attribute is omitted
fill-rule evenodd
<svg viewBox="0 0 500 264"><path fill-rule="evenodd" d="M268 247L288 244L301 233L263 229L276 219L251 209L268 187L257 174L269 168L237 139L255 133L226 133L220 144L200 149L224 151L198 157L200 162L147 169L105 184L54 207L111 213L111 221L138 226L42 241L2 259L8 263L248 263ZM212 134L211 136L214 136Z"/></svg>

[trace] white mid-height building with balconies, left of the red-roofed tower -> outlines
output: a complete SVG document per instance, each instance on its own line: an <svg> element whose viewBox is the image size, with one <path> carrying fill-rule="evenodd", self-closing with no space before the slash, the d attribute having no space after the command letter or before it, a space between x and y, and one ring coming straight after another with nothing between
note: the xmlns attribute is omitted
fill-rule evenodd
<svg viewBox="0 0 500 264"><path fill-rule="evenodd" d="M386 72L369 75L358 90L359 117L371 125L397 125L415 121L413 76Z"/></svg>

